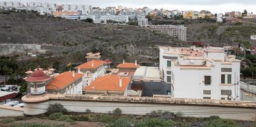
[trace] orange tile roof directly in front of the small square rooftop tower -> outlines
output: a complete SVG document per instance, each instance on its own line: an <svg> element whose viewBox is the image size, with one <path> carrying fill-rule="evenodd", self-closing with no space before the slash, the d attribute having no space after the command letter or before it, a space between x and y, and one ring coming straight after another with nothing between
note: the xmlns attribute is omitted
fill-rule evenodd
<svg viewBox="0 0 256 127"><path fill-rule="evenodd" d="M93 62L93 66L92 66L92 62ZM94 69L100 67L101 65L103 65L104 63L106 63L106 62L103 60L92 60L87 63L83 63L75 68L76 69L80 68L80 69L94 70Z"/></svg>

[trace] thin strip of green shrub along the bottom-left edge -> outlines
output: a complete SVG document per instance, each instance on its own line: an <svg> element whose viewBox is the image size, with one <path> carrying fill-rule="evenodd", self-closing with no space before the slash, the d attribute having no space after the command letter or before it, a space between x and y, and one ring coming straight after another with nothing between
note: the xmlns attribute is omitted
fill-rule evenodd
<svg viewBox="0 0 256 127"><path fill-rule="evenodd" d="M49 125L42 123L17 123L10 125L10 127L64 127L65 125Z"/></svg>

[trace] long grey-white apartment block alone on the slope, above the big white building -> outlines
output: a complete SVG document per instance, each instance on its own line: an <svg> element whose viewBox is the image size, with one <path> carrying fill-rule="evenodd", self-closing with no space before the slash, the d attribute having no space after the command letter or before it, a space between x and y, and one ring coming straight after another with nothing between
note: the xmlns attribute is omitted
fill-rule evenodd
<svg viewBox="0 0 256 127"><path fill-rule="evenodd" d="M184 27L184 25L149 25L149 27L152 30L166 33L182 41L187 41L187 27Z"/></svg>

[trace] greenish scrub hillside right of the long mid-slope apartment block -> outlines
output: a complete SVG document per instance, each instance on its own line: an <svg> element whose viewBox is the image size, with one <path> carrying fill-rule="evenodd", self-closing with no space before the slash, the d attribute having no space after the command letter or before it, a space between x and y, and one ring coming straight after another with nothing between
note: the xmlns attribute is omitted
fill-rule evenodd
<svg viewBox="0 0 256 127"><path fill-rule="evenodd" d="M256 46L250 35L256 35L252 23L192 23L187 24L187 41L202 41L214 46Z"/></svg>

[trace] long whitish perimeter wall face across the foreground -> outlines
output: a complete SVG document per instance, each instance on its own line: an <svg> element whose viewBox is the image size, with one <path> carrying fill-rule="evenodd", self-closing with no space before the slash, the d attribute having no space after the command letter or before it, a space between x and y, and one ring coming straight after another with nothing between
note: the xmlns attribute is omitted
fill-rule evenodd
<svg viewBox="0 0 256 127"><path fill-rule="evenodd" d="M168 110L169 112L182 112L186 117L210 117L217 115L221 118L235 120L254 120L256 109L236 108L236 107L216 107L210 105L182 105L182 104L145 104L145 103L127 103L127 102L98 102L98 101L80 101L80 100L49 100L48 102L37 104L25 104L24 113L27 115L36 115L45 113L49 104L60 103L68 111L85 112L90 109L96 113L112 112L120 108L124 114L145 115L153 110ZM211 112L211 113L204 113ZM231 113L225 113L231 112ZM247 113L241 113L247 112ZM241 115L243 117L241 117Z"/></svg>

